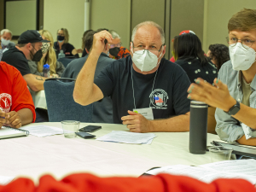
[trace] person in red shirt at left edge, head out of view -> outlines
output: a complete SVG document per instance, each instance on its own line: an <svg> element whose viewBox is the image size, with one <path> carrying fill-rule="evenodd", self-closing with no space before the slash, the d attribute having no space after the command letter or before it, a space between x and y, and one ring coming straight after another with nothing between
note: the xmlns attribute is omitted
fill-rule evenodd
<svg viewBox="0 0 256 192"><path fill-rule="evenodd" d="M20 72L1 61L0 44L0 129L3 125L20 128L36 119L32 96Z"/></svg>

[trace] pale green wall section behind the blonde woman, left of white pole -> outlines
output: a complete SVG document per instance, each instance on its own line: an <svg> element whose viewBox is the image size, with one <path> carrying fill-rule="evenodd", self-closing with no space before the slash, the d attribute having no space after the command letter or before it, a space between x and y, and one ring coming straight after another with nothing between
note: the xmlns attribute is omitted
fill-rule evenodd
<svg viewBox="0 0 256 192"><path fill-rule="evenodd" d="M84 0L44 0L44 29L57 38L57 30L67 28L69 43L82 47L84 33Z"/></svg>

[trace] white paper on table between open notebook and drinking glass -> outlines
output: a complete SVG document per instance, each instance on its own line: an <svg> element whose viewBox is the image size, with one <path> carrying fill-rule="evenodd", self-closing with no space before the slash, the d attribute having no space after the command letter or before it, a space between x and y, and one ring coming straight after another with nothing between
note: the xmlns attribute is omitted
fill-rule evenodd
<svg viewBox="0 0 256 192"><path fill-rule="evenodd" d="M36 126L22 127L22 129L29 131L29 134L37 137L46 137L46 136L53 136L57 134L63 134L62 129L55 126L36 125Z"/></svg>

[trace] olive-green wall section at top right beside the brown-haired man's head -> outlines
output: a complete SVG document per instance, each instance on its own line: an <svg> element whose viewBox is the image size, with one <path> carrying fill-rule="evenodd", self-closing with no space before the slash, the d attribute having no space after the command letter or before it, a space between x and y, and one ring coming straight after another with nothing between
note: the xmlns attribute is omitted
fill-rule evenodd
<svg viewBox="0 0 256 192"><path fill-rule="evenodd" d="M226 44L228 22L243 8L256 9L255 0L205 0L203 49L210 44Z"/></svg>

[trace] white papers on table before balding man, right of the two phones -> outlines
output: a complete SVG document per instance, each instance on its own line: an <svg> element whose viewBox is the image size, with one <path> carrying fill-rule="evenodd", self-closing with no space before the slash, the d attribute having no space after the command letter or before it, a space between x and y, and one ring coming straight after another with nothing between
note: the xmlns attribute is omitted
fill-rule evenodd
<svg viewBox="0 0 256 192"><path fill-rule="evenodd" d="M152 143L154 133L137 133L129 131L112 131L107 135L97 138L96 140L102 142L115 143L131 143L131 144L150 144Z"/></svg>

